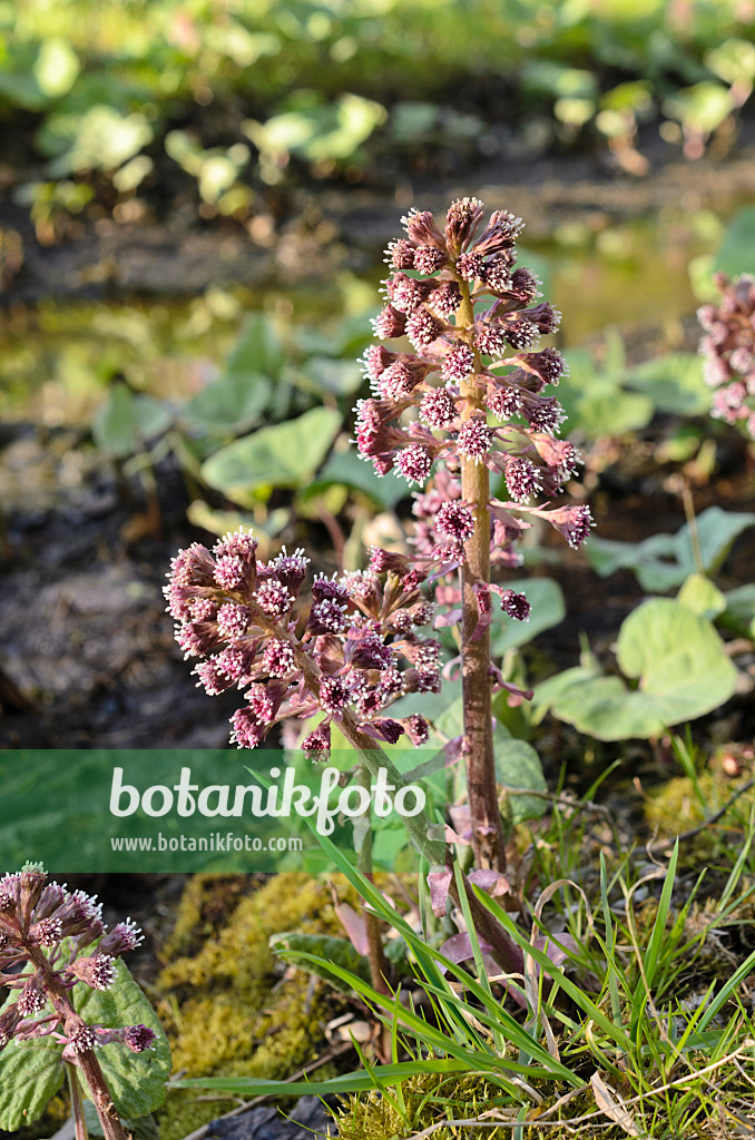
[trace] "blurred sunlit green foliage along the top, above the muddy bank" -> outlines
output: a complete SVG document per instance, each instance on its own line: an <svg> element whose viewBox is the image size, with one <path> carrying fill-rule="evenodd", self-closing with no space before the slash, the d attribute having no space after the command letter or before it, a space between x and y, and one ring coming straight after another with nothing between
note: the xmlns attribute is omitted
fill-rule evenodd
<svg viewBox="0 0 755 1140"><path fill-rule="evenodd" d="M42 239L147 195L246 218L305 173L731 145L750 0L3 0L0 155ZM10 129L8 129L10 128ZM9 176L14 177L14 176Z"/></svg>

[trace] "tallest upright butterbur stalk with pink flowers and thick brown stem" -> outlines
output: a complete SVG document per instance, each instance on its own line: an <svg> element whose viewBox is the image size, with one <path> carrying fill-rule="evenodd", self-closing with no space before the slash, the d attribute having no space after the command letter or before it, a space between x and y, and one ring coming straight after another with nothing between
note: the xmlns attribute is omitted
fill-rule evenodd
<svg viewBox="0 0 755 1140"><path fill-rule="evenodd" d="M443 231L427 211L404 219L406 237L387 251L393 272L374 327L381 340L408 337L413 352L367 350L374 397L356 412L359 451L379 474L396 467L420 484L435 474L432 488L415 496L417 563L424 560L441 579L461 570L461 589L444 585L437 596L450 606L444 624L461 619L476 861L502 871L492 715L493 686L502 678L490 661L490 594L518 620L528 618L529 605L523 595L492 585L490 563L519 564L514 546L533 518L550 522L573 546L592 520L585 506L529 505L535 494L555 496L579 462L571 443L555 438L563 410L544 394L566 363L555 349L536 350L539 336L558 328L560 314L538 303L536 276L514 268L521 219L496 211L478 236L482 218L480 202L462 198L452 203ZM407 422L412 407L419 420ZM492 497L492 474L503 477L505 499Z"/></svg>

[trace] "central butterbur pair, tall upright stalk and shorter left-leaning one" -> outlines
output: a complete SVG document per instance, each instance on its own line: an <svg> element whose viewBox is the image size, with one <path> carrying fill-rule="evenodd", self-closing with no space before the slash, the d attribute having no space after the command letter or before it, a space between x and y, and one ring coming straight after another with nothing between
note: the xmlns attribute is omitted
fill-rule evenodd
<svg viewBox="0 0 755 1140"><path fill-rule="evenodd" d="M515 268L521 220L504 211L486 226L482 219L481 204L463 198L452 204L444 229L429 212L404 220L406 237L388 249L392 272L375 319L380 343L364 357L374 394L356 408L357 447L379 474L396 467L421 488L412 553L373 548L362 571L316 576L305 603L303 552L262 563L252 536L240 531L212 551L194 544L179 552L165 595L179 644L198 659L200 684L211 694L234 685L244 692L246 703L233 717L240 747L255 747L282 722L319 715L305 751L326 757L335 722L373 774L373 765L387 768L399 784L379 742L406 734L423 743L428 725L420 715L391 716L390 706L405 693L439 690L432 627L461 622L464 731L452 748L465 756L478 871L495 876L505 868L505 842L492 698L496 687L513 701L529 694L505 683L490 660L489 626L494 597L517 620L527 619L529 605L505 584L493 584L490 568L520 563L517 542L536 520L573 546L592 520L584 505L534 502L552 499L578 464L573 445L558 438L563 412L550 392L566 364L555 349L537 344L560 315L539 299L535 275ZM401 337L408 345L383 343ZM492 495L490 477L503 488L500 496ZM421 593L423 585L435 598ZM406 822L427 853L429 821ZM446 866L432 882L441 911L456 888L443 845L436 847L440 855L433 849L430 861ZM490 927L473 893L468 896L494 956L520 969L520 951Z"/></svg>

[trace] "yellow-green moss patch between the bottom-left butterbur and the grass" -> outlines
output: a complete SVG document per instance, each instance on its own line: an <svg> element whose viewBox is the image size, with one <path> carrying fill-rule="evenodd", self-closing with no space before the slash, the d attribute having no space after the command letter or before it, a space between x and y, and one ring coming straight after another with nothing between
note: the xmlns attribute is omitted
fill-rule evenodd
<svg viewBox="0 0 755 1140"><path fill-rule="evenodd" d="M229 915L218 929L208 915L224 907ZM188 881L167 948L198 948L167 966L156 986L176 1072L283 1080L319 1056L339 999L301 971L284 974L268 946L270 935L284 930L342 934L324 881L279 874L241 897L227 879ZM318 1077L331 1075L327 1066L318 1070ZM208 1093L169 1094L159 1117L161 1140L180 1140L235 1104L202 1096Z"/></svg>

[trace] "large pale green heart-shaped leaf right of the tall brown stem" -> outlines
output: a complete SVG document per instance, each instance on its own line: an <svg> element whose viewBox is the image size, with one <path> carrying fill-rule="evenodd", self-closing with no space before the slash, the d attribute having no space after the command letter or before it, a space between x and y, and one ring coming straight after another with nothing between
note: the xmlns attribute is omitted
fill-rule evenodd
<svg viewBox="0 0 755 1140"><path fill-rule="evenodd" d="M591 668L568 669L535 689L541 715L550 708L598 740L657 736L723 705L737 670L709 621L677 601L643 602L622 626L617 660L639 687Z"/></svg>

